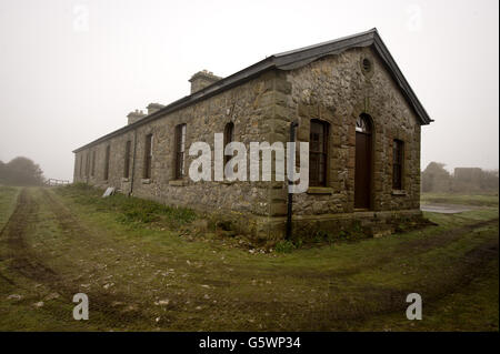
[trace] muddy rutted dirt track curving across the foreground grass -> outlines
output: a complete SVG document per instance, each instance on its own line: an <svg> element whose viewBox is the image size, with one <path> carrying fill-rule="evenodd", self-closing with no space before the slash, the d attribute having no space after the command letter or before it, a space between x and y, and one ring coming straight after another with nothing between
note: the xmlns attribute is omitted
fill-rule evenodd
<svg viewBox="0 0 500 354"><path fill-rule="evenodd" d="M47 213L50 213L58 225L58 232L67 237L67 242L71 243L74 247L84 250L79 256L82 259L71 259L61 253L61 259L70 267L84 267L92 270L93 273L82 273L83 275L76 276L74 272L67 271L66 267L52 267L46 260L46 254L40 253L37 249L30 244L28 235L36 233L33 230L37 224L41 222L40 209L43 209ZM440 247L448 245L460 237L467 235L476 229L497 225L498 219L490 221L482 221L476 224L448 230L446 232L432 234L424 240L412 240L408 243L401 244L397 249L397 253L380 252L378 257L373 257L367 261L361 266L346 266L340 270L321 272L318 270L309 269L276 269L272 273L264 273L266 276L278 282L279 277L291 276L300 282L311 281L311 284L318 282L324 282L329 291L334 295L328 297L331 301L329 304L320 303L326 299L321 297L316 300L317 304L308 307L308 317L299 316L292 320L292 323L297 328L306 330L328 330L331 327L331 323L336 321L362 321L372 316L401 311L406 307L404 297L406 294L412 292L407 287L389 287L379 285L360 285L353 283L350 276L360 274L362 272L369 272L376 267L383 267L386 263L390 262L394 256L409 256L423 254L433 247ZM99 313L104 323L110 326L117 324L124 324L124 327L134 327L134 323L138 327L142 327L143 323L151 322L153 316L154 306L150 296L146 295L149 283L148 279L138 279L132 282L134 290L130 291L128 287L116 289L114 291L104 291L101 286L82 289L83 282L90 282L92 276L113 276L112 270L101 267L101 262L106 259L118 257L121 266L132 267L133 264L142 262L143 259L139 251L132 250L127 245L118 244L112 239L106 237L99 230L89 229L84 226L78 216L76 216L70 209L56 199L51 192L47 190L22 190L19 194L17 206L8 223L3 227L0 234L0 240L7 241L8 256L10 257L9 269L11 272L24 276L33 282L42 283L50 292L54 292L61 295L62 301L71 301L73 294L81 292L82 290L88 293L92 299L92 311ZM111 251L109 251L111 250ZM50 259L50 256L48 256ZM428 280L419 283L419 289L426 294L428 302L438 301L457 290L467 286L472 280L480 277L486 272L486 265L492 260L498 259L498 239L496 241L489 241L473 247L467 252L458 262L450 263L448 269L443 269L439 274L431 274ZM77 262L79 261L79 262ZM187 277L193 277L189 272L199 272L203 274L207 272L204 269L192 270L184 264L186 260L181 259L174 263L177 269L181 269L186 272ZM179 263L183 265L180 266ZM166 266L166 260L161 255L147 256L147 265L142 265L148 270L161 269ZM169 264L172 266L172 264ZM238 264L233 265L238 273L239 282L250 282L252 273ZM197 274L197 275L200 275ZM106 275L106 276L104 276ZM116 274L114 274L116 275ZM208 276L208 275L207 275ZM17 277L10 277L0 273L0 277L6 282L16 285ZM244 279L249 277L249 279ZM312 283L314 281L314 283ZM204 283L209 283L208 280ZM214 280L212 283L217 284ZM230 286L231 282L227 282L224 286ZM192 286L199 286L201 284L191 284ZM224 286L220 286L223 289ZM350 300L341 296L342 289L349 287ZM140 290L143 290L141 292ZM156 291L156 290L153 290ZM273 290L274 292L278 290ZM269 294L268 301L264 297L257 299L232 299L230 294L224 294L222 291L219 294L217 305L212 305L212 311L220 311L221 313L228 311L239 311L240 315L250 315L254 311L256 306L259 306L261 311L267 311L274 316L278 313L293 313L300 312L302 309L301 303L292 303L287 301L287 296L279 300L282 294ZM191 293L189 286L186 286L186 291L172 293L168 292L170 301L171 314L163 315L158 325L171 325L172 322L179 320L183 315L180 315L176 311L182 311L181 303L188 300L188 303L194 305L206 305L206 302L198 299L198 294ZM270 301L271 297L278 297L278 302ZM313 295L311 295L313 296ZM328 296L328 295L327 295ZM311 297L313 299L313 297ZM376 304L376 305L373 305ZM231 310L232 309L232 310ZM326 311L328 309L328 311ZM56 313L56 317L60 317L61 314ZM196 321L198 315L192 316L192 321ZM191 322L192 322L191 321ZM157 321L158 322L158 321ZM290 322L288 322L290 323ZM282 330L278 321L270 321L271 328ZM296 328L296 327L293 327ZM290 330L293 330L290 328ZM179 330L182 330L180 327Z"/></svg>

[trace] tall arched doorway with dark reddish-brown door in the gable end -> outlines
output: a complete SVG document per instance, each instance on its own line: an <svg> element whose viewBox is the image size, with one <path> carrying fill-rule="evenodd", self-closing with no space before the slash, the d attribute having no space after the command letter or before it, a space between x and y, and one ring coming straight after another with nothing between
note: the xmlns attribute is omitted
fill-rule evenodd
<svg viewBox="0 0 500 354"><path fill-rule="evenodd" d="M371 118L361 113L356 120L354 209L371 206Z"/></svg>

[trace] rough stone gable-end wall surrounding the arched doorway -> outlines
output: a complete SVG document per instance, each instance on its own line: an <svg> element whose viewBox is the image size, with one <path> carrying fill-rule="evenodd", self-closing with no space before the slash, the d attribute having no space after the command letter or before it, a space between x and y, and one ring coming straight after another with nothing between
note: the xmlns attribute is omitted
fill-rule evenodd
<svg viewBox="0 0 500 354"><path fill-rule="evenodd" d="M362 60L370 59L370 72ZM420 206L420 124L399 88L370 49L351 49L289 71L291 94L277 102L299 122L297 138L309 141L311 119L330 124L327 189L294 195L294 214L351 213L354 208L356 119L373 120L372 210ZM392 191L392 144L404 142L403 188ZM319 193L319 194L316 194ZM326 194L323 194L326 193Z"/></svg>

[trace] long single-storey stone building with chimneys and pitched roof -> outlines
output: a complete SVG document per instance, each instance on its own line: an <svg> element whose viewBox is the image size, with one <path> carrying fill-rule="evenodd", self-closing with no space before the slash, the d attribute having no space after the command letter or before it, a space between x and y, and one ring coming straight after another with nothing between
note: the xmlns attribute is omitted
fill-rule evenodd
<svg viewBox="0 0 500 354"><path fill-rule="evenodd" d="M283 235L287 182L188 176L192 142L310 143L310 183L294 194L294 231L387 223L420 213L420 128L432 120L376 29L266 58L227 78L201 71L191 94L74 150L74 182L231 216L263 239ZM213 161L213 159L212 159Z"/></svg>

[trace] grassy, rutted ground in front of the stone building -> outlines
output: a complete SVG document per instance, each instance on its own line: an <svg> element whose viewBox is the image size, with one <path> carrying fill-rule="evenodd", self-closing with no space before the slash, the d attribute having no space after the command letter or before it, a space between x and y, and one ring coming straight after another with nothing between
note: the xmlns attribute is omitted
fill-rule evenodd
<svg viewBox="0 0 500 354"><path fill-rule="evenodd" d="M1 331L498 331L498 198L422 230L261 253L199 233L188 209L99 194L0 189ZM80 292L89 321L72 318ZM422 321L404 314L413 292Z"/></svg>

